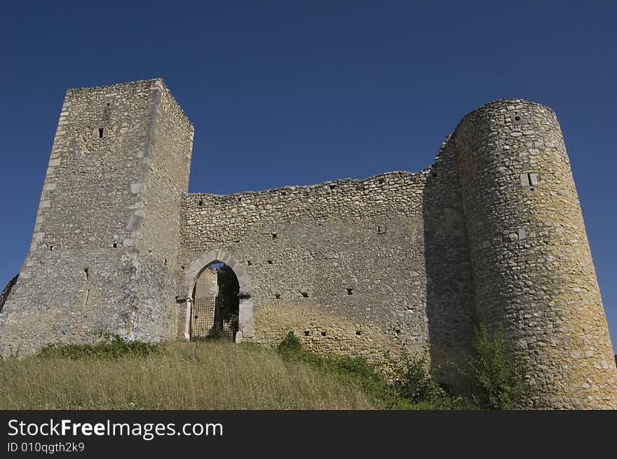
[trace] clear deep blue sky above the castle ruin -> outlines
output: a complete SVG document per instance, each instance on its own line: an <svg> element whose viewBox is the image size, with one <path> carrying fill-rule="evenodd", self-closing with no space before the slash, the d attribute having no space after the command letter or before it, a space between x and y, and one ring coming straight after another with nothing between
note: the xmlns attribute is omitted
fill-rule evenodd
<svg viewBox="0 0 617 459"><path fill-rule="evenodd" d="M421 3L421 4L420 4ZM67 88L162 77L190 191L421 170L461 117L557 112L617 344L614 1L13 1L0 13L0 288L29 247Z"/></svg>

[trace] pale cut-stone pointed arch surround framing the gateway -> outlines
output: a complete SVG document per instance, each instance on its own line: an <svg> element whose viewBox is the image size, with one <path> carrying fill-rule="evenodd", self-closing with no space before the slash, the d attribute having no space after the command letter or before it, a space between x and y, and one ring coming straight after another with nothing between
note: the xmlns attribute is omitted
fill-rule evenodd
<svg viewBox="0 0 617 459"><path fill-rule="evenodd" d="M214 263L226 264L233 270L236 278L238 278L238 332L236 333L235 341L236 343L240 343L244 338L250 338L255 334L251 282L245 267L238 261L236 255L226 250L211 250L210 252L204 252L194 259L189 268L185 271L181 295L181 298L186 303L184 305L184 329L182 335L187 341L191 338L191 306L193 306L193 293L196 282L199 275Z"/></svg>

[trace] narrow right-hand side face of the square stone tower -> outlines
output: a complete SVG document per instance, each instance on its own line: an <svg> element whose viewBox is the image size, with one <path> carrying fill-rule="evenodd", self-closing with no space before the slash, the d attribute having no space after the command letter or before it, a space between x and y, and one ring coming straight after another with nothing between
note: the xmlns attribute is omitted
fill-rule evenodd
<svg viewBox="0 0 617 459"><path fill-rule="evenodd" d="M180 212L189 188L194 133L161 80L151 81L151 104L148 135L137 153L142 159L140 179L130 185L135 202L128 223L140 255L129 333L147 341L172 338L177 329Z"/></svg>

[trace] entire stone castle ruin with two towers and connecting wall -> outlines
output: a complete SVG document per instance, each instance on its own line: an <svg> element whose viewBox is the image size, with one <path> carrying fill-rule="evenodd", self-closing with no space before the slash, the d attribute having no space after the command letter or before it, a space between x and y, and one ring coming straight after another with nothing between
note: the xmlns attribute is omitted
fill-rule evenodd
<svg viewBox="0 0 617 459"><path fill-rule="evenodd" d="M529 407L617 409L552 110L485 104L421 172L229 196L187 193L193 133L161 79L67 91L32 245L3 294L1 355L102 333L198 338L198 280L224 263L236 342L292 330L308 349L377 364L428 349L456 386L447 362L468 355L475 327L503 327Z"/></svg>

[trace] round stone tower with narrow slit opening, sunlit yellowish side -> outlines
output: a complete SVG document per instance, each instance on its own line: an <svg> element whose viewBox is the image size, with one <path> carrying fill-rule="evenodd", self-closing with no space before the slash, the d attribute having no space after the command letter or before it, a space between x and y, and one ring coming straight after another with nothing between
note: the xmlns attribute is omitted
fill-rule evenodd
<svg viewBox="0 0 617 459"><path fill-rule="evenodd" d="M617 409L617 370L555 113L497 100L453 140L477 320L513 340L530 408Z"/></svg>

